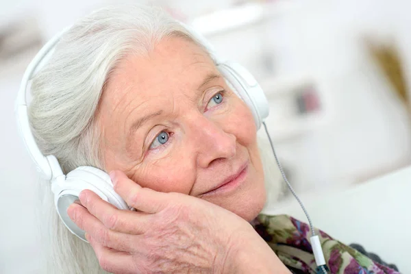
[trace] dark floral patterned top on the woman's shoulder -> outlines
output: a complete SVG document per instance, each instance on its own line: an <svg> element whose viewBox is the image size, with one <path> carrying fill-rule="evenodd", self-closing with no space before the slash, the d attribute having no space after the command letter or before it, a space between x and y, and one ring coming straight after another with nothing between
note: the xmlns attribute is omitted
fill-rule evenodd
<svg viewBox="0 0 411 274"><path fill-rule="evenodd" d="M294 273L323 273L316 268L310 245L310 227L291 216L260 214L253 223L256 232L266 240L278 258ZM398 274L399 272L374 262L362 253L314 229L320 238L328 273L338 274Z"/></svg>

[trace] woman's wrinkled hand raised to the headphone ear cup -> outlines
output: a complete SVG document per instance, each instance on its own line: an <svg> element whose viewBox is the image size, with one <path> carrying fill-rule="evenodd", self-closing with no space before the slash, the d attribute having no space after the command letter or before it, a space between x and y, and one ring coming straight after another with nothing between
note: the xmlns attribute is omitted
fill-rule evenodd
<svg viewBox="0 0 411 274"><path fill-rule="evenodd" d="M141 188L119 171L111 176L114 190L138 212L118 210L90 190L80 194L84 207L73 203L68 210L71 219L86 231L105 271L269 271L274 259L276 273L286 273L268 245L236 214L188 195ZM265 257L258 255L261 252ZM253 260L254 256L258 258ZM262 258L269 261L265 262L269 268L256 262ZM256 264L260 266L256 268Z"/></svg>

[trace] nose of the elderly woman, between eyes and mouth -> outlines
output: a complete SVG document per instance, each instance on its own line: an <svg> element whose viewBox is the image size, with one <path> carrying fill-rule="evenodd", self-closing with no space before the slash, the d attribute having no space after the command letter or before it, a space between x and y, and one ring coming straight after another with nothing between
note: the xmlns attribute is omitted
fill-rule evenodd
<svg viewBox="0 0 411 274"><path fill-rule="evenodd" d="M215 160L229 159L236 155L236 136L225 132L223 127L206 117L196 119L192 128L197 150L197 165L203 169Z"/></svg>

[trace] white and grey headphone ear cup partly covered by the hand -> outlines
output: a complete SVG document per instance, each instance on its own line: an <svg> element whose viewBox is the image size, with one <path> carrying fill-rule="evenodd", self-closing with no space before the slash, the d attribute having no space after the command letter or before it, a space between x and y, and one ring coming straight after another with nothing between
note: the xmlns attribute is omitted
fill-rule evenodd
<svg viewBox="0 0 411 274"><path fill-rule="evenodd" d="M72 203L78 201L80 192L85 189L92 190L101 199L111 203L116 208L121 210L130 209L120 195L114 191L110 176L104 171L92 166L79 166L71 171L66 175L64 182L58 184L58 189L55 190L54 203L64 225L82 240L86 240L84 231L71 221L67 209Z"/></svg>

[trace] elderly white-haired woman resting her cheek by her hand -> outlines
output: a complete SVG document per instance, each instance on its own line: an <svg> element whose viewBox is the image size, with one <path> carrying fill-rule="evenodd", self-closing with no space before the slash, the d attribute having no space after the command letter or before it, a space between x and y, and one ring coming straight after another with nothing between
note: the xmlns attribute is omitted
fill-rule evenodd
<svg viewBox="0 0 411 274"><path fill-rule="evenodd" d="M95 166L136 209L90 190L58 219L49 184L42 273L316 273L308 226L259 215L277 197L247 105L161 10L110 7L62 36L32 84L29 121L64 173ZM319 231L317 231L319 232ZM331 273L395 273L319 232ZM267 245L268 243L268 245ZM379 271L379 272L378 272ZM367 272L368 273L368 272Z"/></svg>

